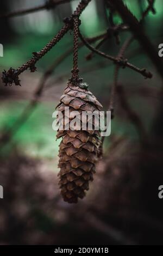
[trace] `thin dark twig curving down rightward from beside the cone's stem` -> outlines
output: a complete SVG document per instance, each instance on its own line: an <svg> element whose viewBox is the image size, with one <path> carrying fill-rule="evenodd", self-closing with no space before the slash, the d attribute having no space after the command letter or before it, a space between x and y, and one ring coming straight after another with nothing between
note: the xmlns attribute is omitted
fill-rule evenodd
<svg viewBox="0 0 163 256"><path fill-rule="evenodd" d="M139 74L141 74L142 76L144 76L145 78L152 78L152 74L151 72L149 71L146 71L146 69L139 69L137 68L136 66L134 66L133 64L130 64L129 62L127 62L126 59L123 59L123 58L115 58L115 57L112 57L108 54L105 54L104 52L101 52L99 50L97 50L95 47L91 46L89 44L89 42L87 42L84 38L83 38L83 35L79 32L79 37L80 39L83 41L83 43L85 44L85 46L87 48L89 48L91 51L99 54L100 56L106 58L106 59L109 59L109 60L112 60L112 62L114 62L115 64L118 64L120 66L122 66L122 68L125 68L126 66L130 69L133 69L134 71L138 72Z"/></svg>

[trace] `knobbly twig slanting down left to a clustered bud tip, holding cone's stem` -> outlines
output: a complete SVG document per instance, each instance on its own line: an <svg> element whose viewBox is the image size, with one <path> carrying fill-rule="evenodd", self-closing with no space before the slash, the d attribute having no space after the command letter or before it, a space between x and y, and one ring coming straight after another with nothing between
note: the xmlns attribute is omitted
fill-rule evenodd
<svg viewBox="0 0 163 256"><path fill-rule="evenodd" d="M74 11L73 15L79 15L82 14L83 10L86 8L87 4L89 4L91 0L82 0L79 4L77 9ZM22 66L20 66L18 69L12 69L10 68L8 71L3 72L2 75L2 81L7 86L8 84L11 85L12 83L15 83L15 85L20 85L20 79L18 76L28 68L31 72L36 71L35 64L36 62L41 59L48 51L50 51L54 45L57 44L57 42L60 41L60 39L72 28L72 19L73 15L71 15L70 18L65 19L65 25L60 29L57 35L54 36L54 38L48 42L48 44L42 48L39 52L33 52L33 57L29 59L26 63L24 63Z"/></svg>

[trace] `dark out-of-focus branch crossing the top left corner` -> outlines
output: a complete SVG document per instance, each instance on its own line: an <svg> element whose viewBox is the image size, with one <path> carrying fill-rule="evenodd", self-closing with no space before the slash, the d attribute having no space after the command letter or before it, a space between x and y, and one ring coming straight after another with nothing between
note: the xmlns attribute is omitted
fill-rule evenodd
<svg viewBox="0 0 163 256"><path fill-rule="evenodd" d="M1 14L0 19L21 16L21 15L29 14L29 13L35 13L36 11L41 11L41 10L45 10L45 9L47 9L47 10L54 9L55 7L57 7L57 5L68 3L70 1L72 1L72 0L48 0L45 4L39 5L38 7L33 7L33 8L18 10L18 11L12 11L11 13L6 13L6 14Z"/></svg>

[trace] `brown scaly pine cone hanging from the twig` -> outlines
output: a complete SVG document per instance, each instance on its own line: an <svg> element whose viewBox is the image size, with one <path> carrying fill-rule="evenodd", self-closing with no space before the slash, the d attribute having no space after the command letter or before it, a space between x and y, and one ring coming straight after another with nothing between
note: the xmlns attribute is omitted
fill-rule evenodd
<svg viewBox="0 0 163 256"><path fill-rule="evenodd" d="M78 111L80 116L82 111L99 112L102 109L101 103L87 89L85 83L73 86L70 82L57 107L64 115L64 120L65 107L69 107L70 113ZM82 128L74 131L58 130L57 138L62 137L59 149L59 185L62 197L68 203L77 203L78 198L85 196L85 190L89 190L89 181L93 180L95 173L99 135L97 130L84 131Z"/></svg>

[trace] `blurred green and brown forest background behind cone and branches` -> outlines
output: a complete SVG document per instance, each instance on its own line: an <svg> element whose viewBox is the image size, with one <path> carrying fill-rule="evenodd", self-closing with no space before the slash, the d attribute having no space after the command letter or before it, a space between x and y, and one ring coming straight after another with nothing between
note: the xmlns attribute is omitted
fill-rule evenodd
<svg viewBox="0 0 163 256"><path fill-rule="evenodd" d="M92 0L81 15L80 31L92 38L111 27L107 1ZM146 0L124 1L138 20L148 6ZM1 14L36 7L43 0L1 0ZM18 68L41 50L62 27L79 1L58 5L55 9L1 18L1 40L4 52L0 71ZM162 0L154 1L143 28L158 51L162 43ZM122 20L116 12L115 25ZM100 50L117 56L129 29L120 33L120 44L114 35ZM93 43L96 46L99 41ZM125 57L139 68L146 68L152 79L131 69L120 69L115 99L115 117L111 135L105 138L104 156L87 196L78 204L67 204L58 186L58 145L52 130L52 113L59 102L72 69L73 34L68 32L39 62L37 72L21 74L21 87L4 87L0 81L1 165L0 199L1 245L134 245L162 244L163 199L158 187L162 174L162 80L155 66L133 40ZM83 81L108 109L114 83L115 65L93 54L85 47L79 50L79 69ZM44 81L42 94L34 104L43 74L52 66Z"/></svg>

